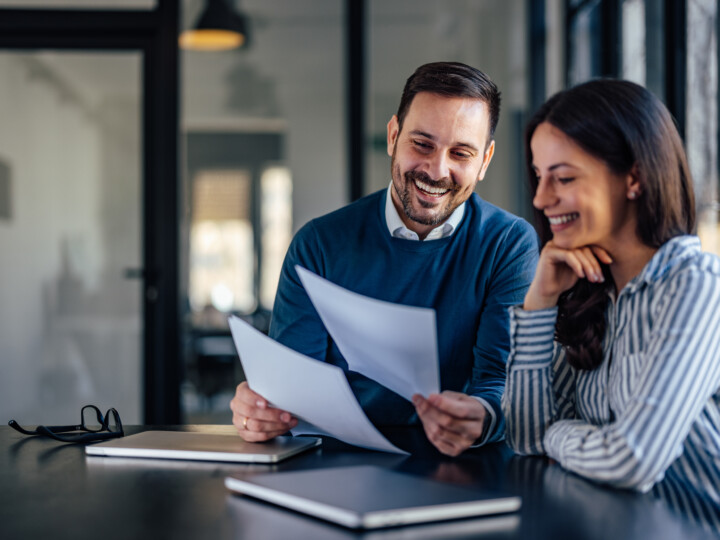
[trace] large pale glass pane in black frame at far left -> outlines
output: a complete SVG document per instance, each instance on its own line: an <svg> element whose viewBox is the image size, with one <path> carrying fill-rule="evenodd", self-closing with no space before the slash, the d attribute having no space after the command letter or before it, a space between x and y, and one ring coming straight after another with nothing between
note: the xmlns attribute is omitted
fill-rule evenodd
<svg viewBox="0 0 720 540"><path fill-rule="evenodd" d="M142 421L140 52L0 52L0 410Z"/></svg>

